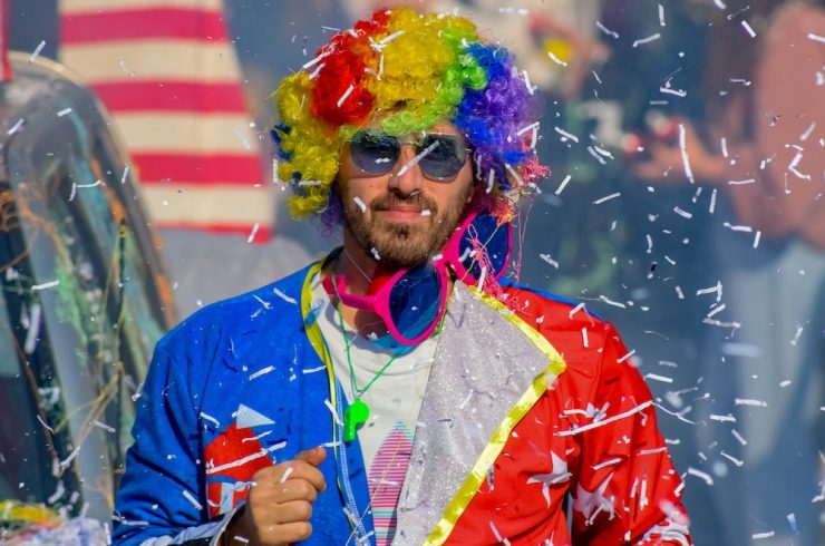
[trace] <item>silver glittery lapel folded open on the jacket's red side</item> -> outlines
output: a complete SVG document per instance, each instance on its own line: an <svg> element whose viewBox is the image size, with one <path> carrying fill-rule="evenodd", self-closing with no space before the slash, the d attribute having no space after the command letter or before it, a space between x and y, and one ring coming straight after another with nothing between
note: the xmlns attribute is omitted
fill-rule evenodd
<svg viewBox="0 0 825 546"><path fill-rule="evenodd" d="M515 325L456 283L416 428L392 544L421 544L509 409L547 365Z"/></svg>

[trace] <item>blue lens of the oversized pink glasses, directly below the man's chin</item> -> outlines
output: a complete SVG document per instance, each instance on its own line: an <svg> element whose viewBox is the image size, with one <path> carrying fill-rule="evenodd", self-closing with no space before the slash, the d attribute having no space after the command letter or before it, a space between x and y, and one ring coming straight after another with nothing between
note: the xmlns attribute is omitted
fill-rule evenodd
<svg viewBox="0 0 825 546"><path fill-rule="evenodd" d="M438 320L441 281L431 265L409 270L389 294L389 312L398 332L408 340L421 335Z"/></svg>

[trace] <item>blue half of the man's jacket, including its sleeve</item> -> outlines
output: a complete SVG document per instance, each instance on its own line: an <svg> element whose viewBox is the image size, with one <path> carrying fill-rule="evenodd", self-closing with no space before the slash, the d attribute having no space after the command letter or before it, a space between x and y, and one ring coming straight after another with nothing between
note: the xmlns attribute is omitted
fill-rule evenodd
<svg viewBox="0 0 825 546"><path fill-rule="evenodd" d="M328 488L303 544L370 536L361 450L337 441L346 398L307 309L319 266L210 305L158 342L115 503L115 544L206 542L245 495L237 476L324 443ZM355 524L344 507L360 515Z"/></svg>

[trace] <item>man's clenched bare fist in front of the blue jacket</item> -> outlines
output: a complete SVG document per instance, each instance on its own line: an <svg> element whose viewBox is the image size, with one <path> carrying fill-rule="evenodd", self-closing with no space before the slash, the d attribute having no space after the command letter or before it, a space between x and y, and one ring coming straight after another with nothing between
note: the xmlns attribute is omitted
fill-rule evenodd
<svg viewBox="0 0 825 546"><path fill-rule="evenodd" d="M246 504L230 523L224 544L278 546L309 538L312 503L327 489L318 469L326 458L327 450L317 447L255 472Z"/></svg>

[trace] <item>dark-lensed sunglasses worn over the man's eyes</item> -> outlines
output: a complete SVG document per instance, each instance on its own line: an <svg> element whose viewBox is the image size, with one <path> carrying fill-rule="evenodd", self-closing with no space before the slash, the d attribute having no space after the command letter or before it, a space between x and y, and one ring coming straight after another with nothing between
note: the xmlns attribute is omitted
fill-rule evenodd
<svg viewBox="0 0 825 546"><path fill-rule="evenodd" d="M416 149L416 158L410 164L416 162L424 176L433 181L455 178L470 152L464 137L458 135L420 131L397 137L378 129L361 129L349 140L349 153L358 168L380 176L392 170L405 144Z"/></svg>

